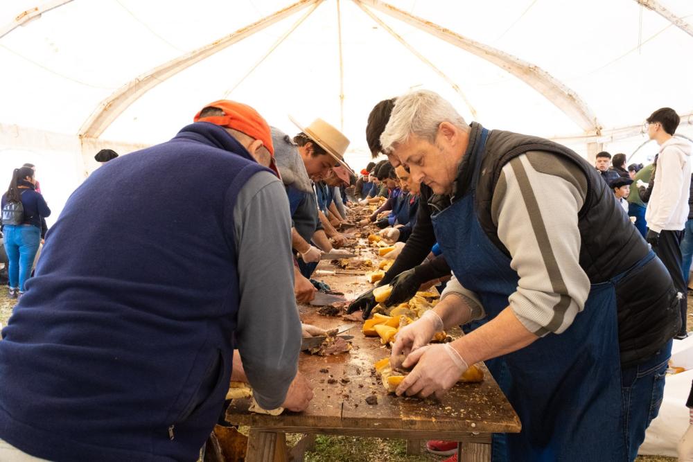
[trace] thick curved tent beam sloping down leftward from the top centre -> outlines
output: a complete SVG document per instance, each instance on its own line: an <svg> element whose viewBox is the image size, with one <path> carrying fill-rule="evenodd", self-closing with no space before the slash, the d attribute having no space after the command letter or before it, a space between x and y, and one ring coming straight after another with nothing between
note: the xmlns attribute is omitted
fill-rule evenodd
<svg viewBox="0 0 693 462"><path fill-rule="evenodd" d="M308 8L315 3L321 3L323 0L299 0L292 5L272 13L262 19L258 19L252 24L236 30L225 37L222 37L210 44L197 48L189 53L185 53L173 60L165 62L160 66L150 69L137 78L130 80L113 94L103 100L98 107L91 113L87 121L82 124L79 136L88 138L98 138L103 132L116 120L125 109L128 109L132 103L137 101L147 91L159 85L159 83L168 80L180 71L187 69L193 64L204 60L205 58L218 53L219 51L238 43L241 40L253 35L254 33L272 26L272 24L281 21L295 12L299 12L304 8Z"/></svg>

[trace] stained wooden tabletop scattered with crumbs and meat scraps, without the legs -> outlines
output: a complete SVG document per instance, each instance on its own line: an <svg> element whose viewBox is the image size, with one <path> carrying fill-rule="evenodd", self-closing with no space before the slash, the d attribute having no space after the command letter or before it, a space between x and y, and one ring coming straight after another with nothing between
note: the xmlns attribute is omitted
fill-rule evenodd
<svg viewBox="0 0 693 462"><path fill-rule="evenodd" d="M363 245L363 240L360 240ZM362 249L363 258L372 256ZM328 261L319 269L335 269ZM344 292L347 299L372 287L365 276L339 274L321 276L319 280L332 290ZM324 317L317 307L299 305L301 320L322 328L335 328L354 323L341 317ZM348 332L353 335L353 349L349 353L327 357L301 353L299 369L315 385L315 398L302 413L285 411L281 416L251 414L249 400L234 400L227 410L229 423L272 429L315 428L372 429L428 432L514 433L520 431L520 421L509 402L498 388L489 371L484 368L484 381L479 384L457 384L441 399L398 398L388 394L375 375L374 362L389 356L389 348L380 345L378 337L364 337L361 324L356 322ZM448 332L453 337L457 332ZM365 401L376 396L378 404Z"/></svg>

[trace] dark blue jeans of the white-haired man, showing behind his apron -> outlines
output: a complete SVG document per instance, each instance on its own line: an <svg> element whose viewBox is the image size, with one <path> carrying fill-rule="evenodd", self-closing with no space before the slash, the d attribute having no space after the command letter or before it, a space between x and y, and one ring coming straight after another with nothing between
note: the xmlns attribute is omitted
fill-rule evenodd
<svg viewBox="0 0 693 462"><path fill-rule="evenodd" d="M672 340L669 340L646 362L621 371L622 425L629 461L635 460L638 448L645 439L645 430L659 414L667 362L671 355Z"/></svg>

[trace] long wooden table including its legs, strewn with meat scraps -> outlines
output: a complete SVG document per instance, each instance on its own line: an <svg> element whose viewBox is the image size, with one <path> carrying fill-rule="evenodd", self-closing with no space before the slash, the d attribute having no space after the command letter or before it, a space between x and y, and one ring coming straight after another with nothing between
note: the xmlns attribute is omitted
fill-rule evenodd
<svg viewBox="0 0 693 462"><path fill-rule="evenodd" d="M365 252L369 254L368 252ZM322 262L319 269L335 269ZM351 299L372 287L364 276L339 274L318 279ZM345 323L341 317L324 317L317 307L301 305L301 320L322 328ZM492 433L516 433L520 420L484 366L480 384L457 384L442 400L398 398L388 394L375 375L374 362L389 355L376 337L364 337L360 323L345 332L353 335L349 353L327 357L301 353L299 369L315 384L315 398L306 411L285 411L281 416L251 414L249 400L234 400L226 419L234 425L251 427L247 461L286 461L284 434L305 434L294 457L315 434L403 438L409 441L410 453L420 450L421 440L459 441L459 461L489 461ZM369 405L366 398L376 396L378 404Z"/></svg>

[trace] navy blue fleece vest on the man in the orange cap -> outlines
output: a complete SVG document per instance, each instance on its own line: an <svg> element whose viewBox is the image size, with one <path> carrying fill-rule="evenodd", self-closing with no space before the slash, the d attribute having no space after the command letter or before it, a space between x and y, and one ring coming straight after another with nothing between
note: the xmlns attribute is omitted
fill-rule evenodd
<svg viewBox="0 0 693 462"><path fill-rule="evenodd" d="M201 122L73 193L3 330L0 438L56 461L197 459L231 372L234 205L263 170Z"/></svg>

